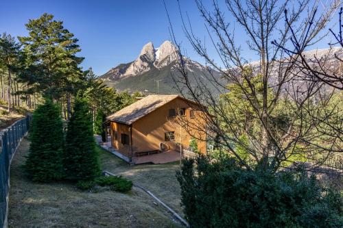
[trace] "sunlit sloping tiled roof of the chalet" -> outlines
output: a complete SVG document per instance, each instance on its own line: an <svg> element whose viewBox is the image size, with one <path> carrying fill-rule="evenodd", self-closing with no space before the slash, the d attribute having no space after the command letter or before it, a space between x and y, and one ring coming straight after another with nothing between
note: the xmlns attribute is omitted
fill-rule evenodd
<svg viewBox="0 0 343 228"><path fill-rule="evenodd" d="M158 109L171 100L179 97L178 95L149 95L143 99L124 107L115 114L107 117L108 121L115 121L131 125L134 121Z"/></svg>

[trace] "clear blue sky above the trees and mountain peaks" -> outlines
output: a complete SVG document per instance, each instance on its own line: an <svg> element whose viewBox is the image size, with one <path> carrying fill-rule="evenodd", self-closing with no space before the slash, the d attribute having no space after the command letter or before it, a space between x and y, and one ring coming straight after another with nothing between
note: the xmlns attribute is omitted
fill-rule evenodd
<svg viewBox="0 0 343 228"><path fill-rule="evenodd" d="M202 62L192 51L181 28L176 0L165 0L178 41L193 60ZM189 14L193 29L206 38L204 23L193 1L180 1L182 11ZM169 22L162 0L150 1L3 1L0 8L0 32L12 36L26 36L25 23L29 18L38 18L47 12L56 20L64 22L78 38L82 48L80 56L85 57L84 68L93 67L97 75L120 63L131 62L139 55L141 48L152 41L155 47L169 40ZM236 37L244 45L244 31L237 29ZM208 38L207 38L208 40ZM317 47L327 47L321 42ZM214 53L213 49L209 49ZM244 50L246 51L246 50ZM246 51L250 60L257 58Z"/></svg>

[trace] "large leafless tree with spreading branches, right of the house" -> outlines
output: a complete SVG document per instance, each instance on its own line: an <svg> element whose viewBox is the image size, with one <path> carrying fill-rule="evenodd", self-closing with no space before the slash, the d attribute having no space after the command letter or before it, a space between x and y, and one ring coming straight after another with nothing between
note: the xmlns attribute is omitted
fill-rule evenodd
<svg viewBox="0 0 343 228"><path fill-rule="evenodd" d="M183 96L204 105L200 105L200 111L208 128L182 118L178 120L180 125L190 134L197 129L216 138L221 148L237 157L246 168L251 168L251 160L271 170L294 160L314 161L311 164L319 166L332 153L342 152L342 134L322 130L323 125L342 128L342 110L332 99L335 94L324 83L300 80L296 62L289 61L281 48L292 42L294 34L305 43L318 42L340 1L332 1L318 18L312 16L316 14L318 1L226 0L221 8L213 0L212 10L200 0L195 3L220 62L209 55L179 4L187 39L209 66L206 75L193 75L189 71L191 62L182 55L171 26L171 37L180 56L180 73L174 75L174 80ZM259 56L258 62L251 63L244 57L237 42L241 38L235 36L235 27L226 18L233 18L245 31L246 46ZM272 45L272 40L279 46ZM216 77L213 69L222 77ZM217 90L212 90L210 84ZM241 154L242 149L248 153L248 160Z"/></svg>

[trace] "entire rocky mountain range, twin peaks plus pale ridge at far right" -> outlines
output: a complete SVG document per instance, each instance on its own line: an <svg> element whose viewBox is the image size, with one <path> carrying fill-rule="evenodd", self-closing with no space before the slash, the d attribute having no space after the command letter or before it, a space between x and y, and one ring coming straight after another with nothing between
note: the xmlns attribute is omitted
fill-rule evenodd
<svg viewBox="0 0 343 228"><path fill-rule="evenodd" d="M343 58L342 48L333 49L315 49L307 51L305 57L312 62L314 60L323 60L325 66L330 69L342 68L342 64L338 61L338 58ZM165 41L163 44L154 48L152 42L148 42L144 45L138 58L133 62L128 64L119 64L115 68L111 68L110 71L101 76L105 80L108 86L114 86L117 90L128 90L133 91L146 91L149 93L164 93L170 94L178 92L175 88L176 84L174 78L178 76L178 68L176 63L178 61L178 55L176 53L176 48L174 45ZM196 80L201 80L203 77L209 76L209 68L202 66L196 61L185 59L188 69L191 74L189 74L189 81L191 84L195 85ZM314 61L316 62L316 61ZM252 70L258 74L259 73L259 62L250 62L248 64L252 67ZM286 68L287 64L285 65ZM278 75L282 71L279 68L279 64L270 67L269 69L271 77L271 84L278 84ZM294 74L300 76L300 72L294 70ZM223 84L227 84L228 81L222 79L220 73L211 70L217 79L223 81ZM157 83L158 81L158 83ZM299 85L303 84L301 80L297 82ZM158 88L157 88L158 85ZM210 83L206 83L207 86L212 86ZM213 91L218 92L213 87Z"/></svg>

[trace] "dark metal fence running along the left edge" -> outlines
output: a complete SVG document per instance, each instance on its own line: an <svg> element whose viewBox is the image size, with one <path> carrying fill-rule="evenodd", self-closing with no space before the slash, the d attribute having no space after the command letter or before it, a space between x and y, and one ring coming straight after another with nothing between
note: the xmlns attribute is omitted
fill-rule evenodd
<svg viewBox="0 0 343 228"><path fill-rule="evenodd" d="M31 116L16 121L0 131L0 227L7 227L8 192L10 190L10 164L21 139L29 129Z"/></svg>

